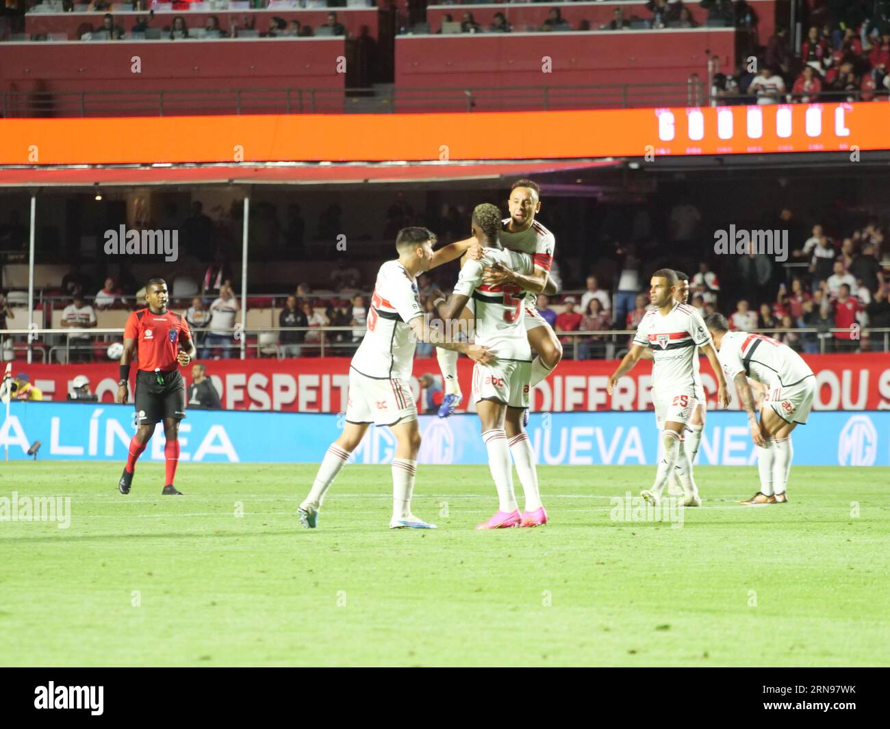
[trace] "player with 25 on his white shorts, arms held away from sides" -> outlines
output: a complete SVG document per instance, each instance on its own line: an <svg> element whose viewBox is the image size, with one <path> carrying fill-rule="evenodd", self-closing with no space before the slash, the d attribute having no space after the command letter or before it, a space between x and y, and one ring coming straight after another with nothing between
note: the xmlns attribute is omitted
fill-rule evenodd
<svg viewBox="0 0 890 729"><path fill-rule="evenodd" d="M606 390L611 395L619 379L634 369L643 355L643 348L651 349L654 360L652 401L655 405L655 423L661 431L664 457L659 461L651 490L643 490L640 495L658 504L667 480L676 470L684 490L684 505L701 506L699 490L692 478L689 453L684 446L684 431L688 429L695 408L692 360L697 356L696 347L705 352L714 369L717 403L721 408L729 405L730 395L705 322L692 306L676 301L675 294L675 271L669 268L655 271L649 285L649 299L656 308L643 316L636 328L630 352L612 373Z"/></svg>

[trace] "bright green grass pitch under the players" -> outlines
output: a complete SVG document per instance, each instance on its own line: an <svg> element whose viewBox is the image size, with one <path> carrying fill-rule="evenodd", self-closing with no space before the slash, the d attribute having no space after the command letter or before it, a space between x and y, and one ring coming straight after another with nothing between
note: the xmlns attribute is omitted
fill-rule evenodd
<svg viewBox="0 0 890 729"><path fill-rule="evenodd" d="M0 521L2 662L888 663L890 469L795 467L789 504L744 507L755 468L701 466L677 529L611 519L651 467L541 466L551 523L489 532L485 466L420 466L437 531L387 528L387 466L344 468L305 531L315 470L183 464L162 498L154 464L127 497L118 464L4 464L0 497L70 496L71 522Z"/></svg>

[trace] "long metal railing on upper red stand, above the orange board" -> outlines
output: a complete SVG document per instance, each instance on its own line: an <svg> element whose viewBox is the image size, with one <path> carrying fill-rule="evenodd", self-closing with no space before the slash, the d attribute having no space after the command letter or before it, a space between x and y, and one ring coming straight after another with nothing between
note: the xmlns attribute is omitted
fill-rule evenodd
<svg viewBox="0 0 890 729"><path fill-rule="evenodd" d="M675 84L375 89L195 89L0 93L2 117L349 114L627 109L708 103L699 77Z"/></svg>

